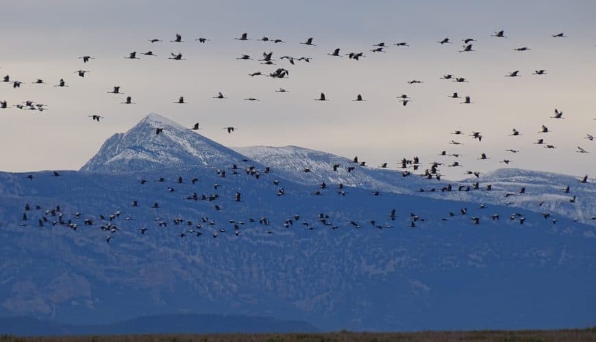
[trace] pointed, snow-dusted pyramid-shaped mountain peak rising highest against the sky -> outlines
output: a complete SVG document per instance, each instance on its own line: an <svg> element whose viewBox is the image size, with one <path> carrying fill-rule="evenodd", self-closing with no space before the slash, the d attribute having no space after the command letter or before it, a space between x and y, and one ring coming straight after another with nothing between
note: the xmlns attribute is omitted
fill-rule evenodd
<svg viewBox="0 0 596 342"><path fill-rule="evenodd" d="M163 129L156 134L156 129ZM145 116L126 133L112 135L81 171L122 173L228 166L245 159L221 144L158 114Z"/></svg>

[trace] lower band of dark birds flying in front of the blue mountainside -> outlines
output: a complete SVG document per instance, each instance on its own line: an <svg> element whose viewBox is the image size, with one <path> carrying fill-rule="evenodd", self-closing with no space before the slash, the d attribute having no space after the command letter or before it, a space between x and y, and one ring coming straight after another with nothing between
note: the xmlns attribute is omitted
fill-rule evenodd
<svg viewBox="0 0 596 342"><path fill-rule="evenodd" d="M419 163L416 160L417 157L414 157L414 161L412 163ZM250 163L249 159L243 159L243 163ZM405 161L406 163L409 161ZM199 179L197 177L193 177L190 179L190 182L184 181L182 176L178 176L175 181L166 180L165 177L160 176L158 179L153 181L148 181L147 179L139 179L138 186L147 186L147 184L157 183L160 186L165 185L164 187L164 194L172 194L175 192L179 192L182 188L182 191L186 191L187 194L184 194L182 197L178 196L177 198L182 199L186 202L197 202L197 201L204 201L210 202L212 204L212 209L214 213L222 213L227 211L234 211L233 203L234 202L243 202L243 196L240 194L239 191L236 191L233 198L224 198L220 196L218 193L221 191L222 187L227 187L226 179L229 176L238 176L240 174L245 174L247 176L252 177L254 180L260 179L262 175L271 174L273 171L270 167L265 167L263 170L258 170L256 166L250 166L247 164L245 168L239 168L236 163L234 163L230 168L227 170L216 170L216 175L221 179L221 183L215 183L212 185L211 190L207 190L202 194L199 194L196 189L194 188L197 184ZM353 159L353 166L347 166L354 170L357 167L364 167L363 163L358 162L358 158L355 157ZM338 172L340 165L334 164L330 166L335 172ZM306 171L306 170L305 170ZM38 174L38 176L45 176L44 174ZM30 181L34 181L38 176L34 176L34 174L28 174L27 179ZM58 172L53 172L53 177L62 176ZM475 174L478 176L478 174ZM269 179L271 181L271 179ZM286 190L284 187L281 186L280 181L277 179L273 179L273 185L275 185L276 195L277 196L285 196ZM587 176L579 180L579 183L588 183ZM346 196L347 187L344 187L342 183L338 183L336 185L327 185L325 182L321 183L316 190L314 190L311 194L312 196L321 196L323 194L333 194L334 192L337 196ZM440 192L451 192L451 191L460 191L460 192L470 192L470 191L491 191L492 185L486 184L480 187L479 182L473 183L471 186L469 185L451 185L447 184L445 187L440 188ZM233 190L232 190L233 191ZM421 192L425 190L421 189ZM430 192L434 192L435 189L427 190ZM561 189L561 192L564 194L570 194L571 188L569 185ZM506 197L509 196L524 196L527 194L526 188L521 187L517 194L508 193ZM380 196L380 192L374 191L371 194L372 196ZM167 197L164 198L167 202L171 203L174 200L174 197ZM569 198L569 203L575 203L576 196ZM539 206L542 205L545 201L541 201L538 203ZM350 220L345 219L344 217L333 217L328 213L319 213L316 218L310 218L310 215L300 215L294 214L288 218L285 218L283 222L271 222L269 218L266 216L260 216L258 218L229 218L225 220L225 222L218 222L212 218L209 218L209 215L203 215L200 217L200 220L197 218L183 218L179 215L173 218L164 218L160 214L160 204L158 201L146 200L146 203L141 202L137 199L133 199L127 207L129 208L138 208L138 207L147 207L153 210L153 214L156 215L154 218L153 224L154 226L143 225L137 226L136 229L138 234L145 235L148 231L153 229L167 229L169 224L171 226L179 226L184 227L182 231L176 231L176 234L179 235L180 238L185 238L188 236L195 235L200 237L201 235L210 235L213 238L218 237L228 231L233 231L236 237L239 237L245 228L251 226L255 228L254 225L260 225L264 227L264 230L260 230L260 233L264 233L266 235L274 234L275 227L278 228L293 228L294 226L300 227L302 226L304 229L308 231L314 231L319 228L330 228L333 231L338 228L377 228L377 229L386 229L386 228L394 228L397 220L397 224L403 224L407 228L416 228L420 224L430 223L434 220L434 218L425 218L423 215L419 213L414 213L413 211L404 211L401 213L403 216L400 218L400 213L396 211L396 209L391 209L388 211L386 217L384 218L371 218L367 222L361 222L358 220ZM482 224L482 220L500 220L501 217L509 218L511 222L516 222L517 224L524 224L528 219L527 216L523 215L522 213L518 213L512 211L511 213L497 213L491 212L486 213L486 209L489 206L481 203L479 207L474 211L474 209L469 209L468 207L462 207L457 212L448 211L443 215L443 218L440 218L442 222L449 222L450 220L458 220L458 218L469 218L470 224L478 225ZM242 212L242 211L240 211ZM129 210L123 207L113 213L95 213L95 214L83 214L80 212L69 212L69 210L62 210L60 205L55 205L50 208L42 207L41 205L29 205L26 203L23 208L23 215L21 218L21 222L18 224L19 226L29 226L30 224L36 225L40 228L44 227L52 227L52 226L66 226L68 228L73 229L73 231L77 231L80 224L84 226L88 226L90 228L96 227L101 229L101 231L105 231L108 235L105 235L105 242L110 243L116 233L121 231L124 226L128 226L125 222L133 222L136 220L134 217L134 209ZM347 214L349 215L349 214ZM550 220L551 224L556 224L558 220L551 216L551 213L548 211L543 211L541 216L545 220ZM591 220L596 220L596 216L591 217ZM145 221L145 220L144 220ZM574 220L575 222L580 222L580 219ZM29 223L33 222L33 223ZM35 223L36 222L36 223ZM0 227L2 224L0 223ZM229 228L227 228L229 227ZM128 229L127 229L128 230Z"/></svg>

